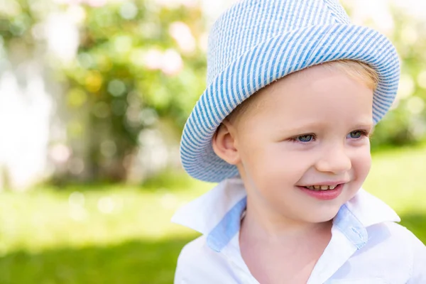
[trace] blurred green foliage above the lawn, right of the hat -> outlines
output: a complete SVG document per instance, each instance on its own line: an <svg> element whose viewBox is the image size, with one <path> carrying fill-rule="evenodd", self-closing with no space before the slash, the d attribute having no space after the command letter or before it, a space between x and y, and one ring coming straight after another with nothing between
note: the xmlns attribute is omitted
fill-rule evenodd
<svg viewBox="0 0 426 284"><path fill-rule="evenodd" d="M376 127L372 148L402 146L426 138L426 21L391 6L390 35L401 58L401 79L393 110Z"/></svg>

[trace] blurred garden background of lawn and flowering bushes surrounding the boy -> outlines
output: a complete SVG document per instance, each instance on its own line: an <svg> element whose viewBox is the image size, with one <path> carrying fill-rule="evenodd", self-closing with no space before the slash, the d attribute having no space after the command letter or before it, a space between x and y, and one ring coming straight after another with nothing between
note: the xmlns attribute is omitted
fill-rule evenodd
<svg viewBox="0 0 426 284"><path fill-rule="evenodd" d="M180 166L225 0L0 0L0 283L172 283L213 186ZM343 1L398 49L365 188L426 242L426 3Z"/></svg>

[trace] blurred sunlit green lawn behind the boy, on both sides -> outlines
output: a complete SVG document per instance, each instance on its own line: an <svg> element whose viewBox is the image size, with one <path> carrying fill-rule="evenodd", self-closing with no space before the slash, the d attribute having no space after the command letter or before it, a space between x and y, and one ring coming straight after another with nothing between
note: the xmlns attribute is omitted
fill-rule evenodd
<svg viewBox="0 0 426 284"><path fill-rule="evenodd" d="M425 174L426 148L382 152L364 186L424 242ZM175 183L1 192L0 283L173 283L178 253L197 235L170 217L212 186Z"/></svg>

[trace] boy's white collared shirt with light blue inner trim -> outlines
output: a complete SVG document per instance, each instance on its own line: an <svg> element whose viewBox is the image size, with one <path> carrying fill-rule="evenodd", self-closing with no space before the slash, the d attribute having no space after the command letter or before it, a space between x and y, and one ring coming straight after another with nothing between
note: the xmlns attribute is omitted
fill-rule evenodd
<svg viewBox="0 0 426 284"><path fill-rule="evenodd" d="M203 234L182 249L175 284L258 284L239 249L245 208L246 190L234 178L175 213L172 222ZM399 221L391 207L359 190L334 218L307 284L426 284L426 247Z"/></svg>

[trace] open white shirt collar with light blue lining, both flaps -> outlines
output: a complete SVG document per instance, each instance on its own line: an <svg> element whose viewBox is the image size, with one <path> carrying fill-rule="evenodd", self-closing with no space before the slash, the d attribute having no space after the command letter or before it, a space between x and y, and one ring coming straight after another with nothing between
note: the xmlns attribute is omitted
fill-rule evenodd
<svg viewBox="0 0 426 284"><path fill-rule="evenodd" d="M230 178L178 209L172 222L207 235L209 247L221 251L239 231L245 208L244 184L240 178ZM400 218L386 203L360 189L342 205L333 226L360 249L368 240L366 228L383 222L400 222Z"/></svg>

